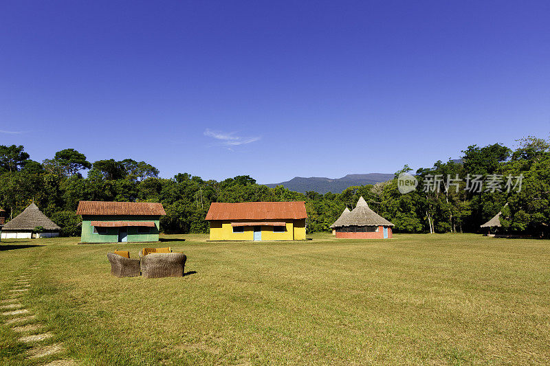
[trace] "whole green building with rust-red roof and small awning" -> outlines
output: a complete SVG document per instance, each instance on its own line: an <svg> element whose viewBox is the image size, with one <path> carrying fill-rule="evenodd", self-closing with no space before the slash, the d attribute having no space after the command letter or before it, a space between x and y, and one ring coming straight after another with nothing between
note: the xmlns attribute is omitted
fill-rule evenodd
<svg viewBox="0 0 550 366"><path fill-rule="evenodd" d="M83 243L158 242L162 203L80 201Z"/></svg>

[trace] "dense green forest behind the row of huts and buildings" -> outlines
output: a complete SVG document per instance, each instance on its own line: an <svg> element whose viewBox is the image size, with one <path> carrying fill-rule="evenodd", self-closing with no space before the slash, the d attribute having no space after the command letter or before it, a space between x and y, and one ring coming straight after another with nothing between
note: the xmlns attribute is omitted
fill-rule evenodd
<svg viewBox="0 0 550 366"><path fill-rule="evenodd" d="M407 194L398 187L397 176L404 172L419 181ZM307 231L314 232L328 231L360 196L395 224L395 232L476 232L503 209L503 230L548 238L550 140L523 138L514 150L502 144L468 146L461 161L437 161L417 172L405 165L392 181L349 187L341 194L270 188L250 176L205 181L180 173L164 179L144 161L90 163L74 149L39 163L23 146L0 146L0 207L8 220L34 201L65 236L80 234L75 211L81 200L160 202L166 209L161 219L165 233L208 232L204 218L212 202L305 201Z"/></svg>

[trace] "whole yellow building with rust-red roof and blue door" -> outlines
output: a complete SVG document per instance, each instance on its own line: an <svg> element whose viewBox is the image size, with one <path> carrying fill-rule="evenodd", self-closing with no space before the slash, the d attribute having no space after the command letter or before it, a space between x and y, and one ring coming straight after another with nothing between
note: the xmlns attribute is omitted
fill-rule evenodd
<svg viewBox="0 0 550 366"><path fill-rule="evenodd" d="M305 240L305 203L212 203L210 240Z"/></svg>

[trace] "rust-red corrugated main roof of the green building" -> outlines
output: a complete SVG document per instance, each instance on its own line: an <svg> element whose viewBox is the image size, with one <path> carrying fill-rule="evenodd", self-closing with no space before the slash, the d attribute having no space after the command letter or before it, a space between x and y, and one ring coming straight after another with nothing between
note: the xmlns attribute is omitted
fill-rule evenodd
<svg viewBox="0 0 550 366"><path fill-rule="evenodd" d="M162 203L80 201L77 215L166 215Z"/></svg>

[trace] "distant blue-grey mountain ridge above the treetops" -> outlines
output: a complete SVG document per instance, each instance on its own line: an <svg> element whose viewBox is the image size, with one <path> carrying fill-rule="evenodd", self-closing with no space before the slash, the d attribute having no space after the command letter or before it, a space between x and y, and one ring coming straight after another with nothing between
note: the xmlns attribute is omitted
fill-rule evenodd
<svg viewBox="0 0 550 366"><path fill-rule="evenodd" d="M348 174L342 178L325 178L319 176L311 176L304 178L302 176L296 176L290 181L266 184L267 187L276 187L277 185L283 185L283 187L305 193L306 191L314 191L320 194L327 192L342 193L346 188L352 185L366 185L385 182L393 179L393 174L384 173L369 173L369 174Z"/></svg>

